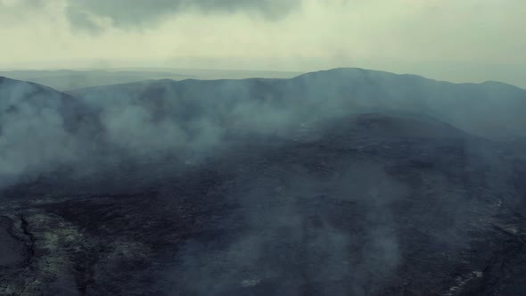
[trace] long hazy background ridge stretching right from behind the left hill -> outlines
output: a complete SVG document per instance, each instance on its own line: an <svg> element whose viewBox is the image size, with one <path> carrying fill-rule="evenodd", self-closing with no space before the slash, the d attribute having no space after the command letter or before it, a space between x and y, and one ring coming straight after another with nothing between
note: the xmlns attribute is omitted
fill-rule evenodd
<svg viewBox="0 0 526 296"><path fill-rule="evenodd" d="M135 102L159 116L196 119L213 114L270 128L277 121L288 124L349 112L401 111L440 119L477 136L526 136L522 88L498 82L454 84L375 70L334 69L290 79L162 79L69 93L91 103Z"/></svg>

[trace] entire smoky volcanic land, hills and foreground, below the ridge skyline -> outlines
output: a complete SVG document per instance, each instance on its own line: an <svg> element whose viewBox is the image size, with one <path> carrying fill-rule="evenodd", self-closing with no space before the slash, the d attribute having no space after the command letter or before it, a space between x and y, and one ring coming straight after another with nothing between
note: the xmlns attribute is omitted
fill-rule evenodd
<svg viewBox="0 0 526 296"><path fill-rule="evenodd" d="M521 295L526 91L0 78L2 295Z"/></svg>

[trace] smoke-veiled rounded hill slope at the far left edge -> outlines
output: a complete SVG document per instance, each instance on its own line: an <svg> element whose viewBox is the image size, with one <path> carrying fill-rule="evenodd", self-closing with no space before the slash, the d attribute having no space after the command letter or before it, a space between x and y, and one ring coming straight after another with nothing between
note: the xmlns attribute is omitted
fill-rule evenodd
<svg viewBox="0 0 526 296"><path fill-rule="evenodd" d="M96 114L70 95L0 77L0 187L78 159L99 127Z"/></svg>

